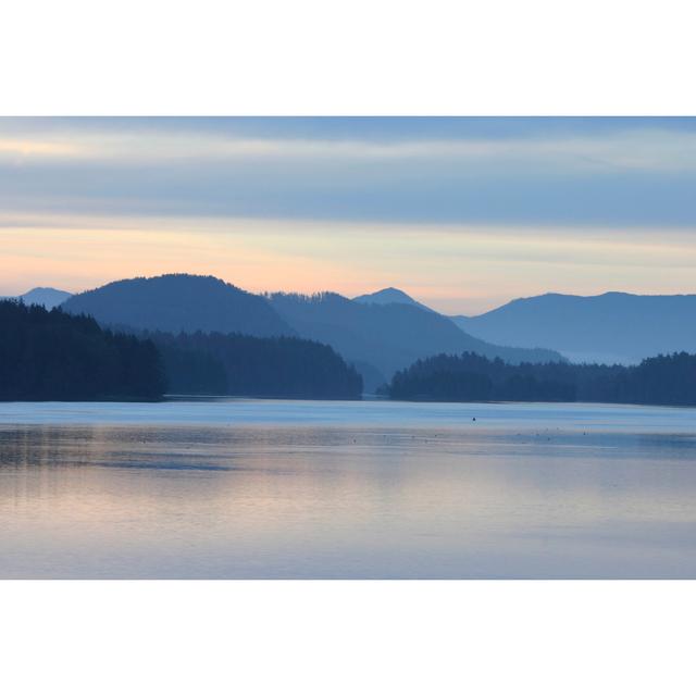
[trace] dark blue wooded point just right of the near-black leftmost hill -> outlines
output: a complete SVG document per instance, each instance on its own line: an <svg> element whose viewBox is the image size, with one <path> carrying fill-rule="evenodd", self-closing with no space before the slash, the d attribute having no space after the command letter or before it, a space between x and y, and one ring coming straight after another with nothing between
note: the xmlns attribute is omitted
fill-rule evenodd
<svg viewBox="0 0 696 696"><path fill-rule="evenodd" d="M170 393L359 399L362 377L333 348L289 336L148 333L162 352Z"/></svg>

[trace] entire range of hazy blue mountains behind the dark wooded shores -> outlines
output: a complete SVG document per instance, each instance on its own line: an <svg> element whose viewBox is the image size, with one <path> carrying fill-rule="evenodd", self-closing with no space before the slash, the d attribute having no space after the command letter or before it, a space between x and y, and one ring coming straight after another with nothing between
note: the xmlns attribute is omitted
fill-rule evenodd
<svg viewBox="0 0 696 696"><path fill-rule="evenodd" d="M475 316L445 316L394 287L353 299L335 293L254 295L212 276L173 274L119 281L74 296L35 288L20 297L49 309L62 303L69 312L136 331L311 338L353 363L368 390L442 352L476 352L511 363L633 364L659 353L696 351L696 295L547 294Z"/></svg>

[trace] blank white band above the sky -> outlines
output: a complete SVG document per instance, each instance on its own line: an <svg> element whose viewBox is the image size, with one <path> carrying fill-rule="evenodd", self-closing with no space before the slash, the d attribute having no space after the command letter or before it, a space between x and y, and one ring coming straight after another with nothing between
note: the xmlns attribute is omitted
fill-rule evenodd
<svg viewBox="0 0 696 696"><path fill-rule="evenodd" d="M0 113L682 114L688 0L10 0Z"/></svg>

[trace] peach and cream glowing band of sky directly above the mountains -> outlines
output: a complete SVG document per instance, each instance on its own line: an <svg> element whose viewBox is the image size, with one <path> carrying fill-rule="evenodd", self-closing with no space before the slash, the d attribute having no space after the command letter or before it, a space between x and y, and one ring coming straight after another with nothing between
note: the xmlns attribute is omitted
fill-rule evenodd
<svg viewBox="0 0 696 696"><path fill-rule="evenodd" d="M606 290L692 293L683 234L322 223L238 219L14 217L0 226L0 295L69 291L162 273L211 274L250 291L395 286L447 313L514 297ZM669 269L669 276L651 272Z"/></svg>

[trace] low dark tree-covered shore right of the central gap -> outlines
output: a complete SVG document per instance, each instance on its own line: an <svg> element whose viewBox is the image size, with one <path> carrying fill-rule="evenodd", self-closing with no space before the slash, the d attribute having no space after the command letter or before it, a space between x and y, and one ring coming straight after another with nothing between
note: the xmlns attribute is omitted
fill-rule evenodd
<svg viewBox="0 0 696 696"><path fill-rule="evenodd" d="M561 362L513 365L469 352L439 355L397 372L384 393L405 400L696 406L696 356L679 352L624 366Z"/></svg>

